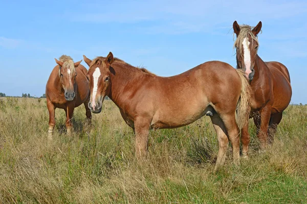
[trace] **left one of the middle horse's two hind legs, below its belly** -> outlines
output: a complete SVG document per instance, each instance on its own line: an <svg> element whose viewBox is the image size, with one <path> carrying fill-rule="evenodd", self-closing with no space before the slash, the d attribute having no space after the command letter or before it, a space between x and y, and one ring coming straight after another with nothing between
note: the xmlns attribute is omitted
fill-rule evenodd
<svg viewBox="0 0 307 204"><path fill-rule="evenodd" d="M227 137L227 130L224 125L224 122L218 116L217 113L213 114L213 116L210 116L214 130L217 135L217 140L218 140L218 154L217 154L217 159L214 167L214 171L217 170L218 167L224 165L225 159L226 159L226 150L228 147L228 137Z"/></svg>

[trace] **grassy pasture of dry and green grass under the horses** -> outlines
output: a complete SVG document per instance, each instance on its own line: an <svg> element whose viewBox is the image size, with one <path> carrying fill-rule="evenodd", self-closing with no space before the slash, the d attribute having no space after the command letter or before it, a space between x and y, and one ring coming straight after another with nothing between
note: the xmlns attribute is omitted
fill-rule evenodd
<svg viewBox="0 0 307 204"><path fill-rule="evenodd" d="M184 111L184 110L183 110ZM250 120L250 159L213 172L217 138L209 117L150 131L149 154L134 156L135 136L111 100L73 135L63 110L48 139L46 99L0 98L0 203L307 203L307 106L289 106L275 142L259 152Z"/></svg>

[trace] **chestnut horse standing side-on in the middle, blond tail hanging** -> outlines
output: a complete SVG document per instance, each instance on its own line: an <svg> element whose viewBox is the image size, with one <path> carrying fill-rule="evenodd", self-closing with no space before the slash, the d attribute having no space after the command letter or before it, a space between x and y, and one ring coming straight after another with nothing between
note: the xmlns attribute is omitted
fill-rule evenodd
<svg viewBox="0 0 307 204"><path fill-rule="evenodd" d="M83 58L90 66L89 108L99 113L106 95L113 100L136 134L137 157L147 153L149 129L180 127L209 115L219 144L215 169L225 162L229 139L234 162L239 163L238 126L245 125L250 111L250 87L242 71L212 61L173 77L158 77L113 58L111 52L93 61Z"/></svg>

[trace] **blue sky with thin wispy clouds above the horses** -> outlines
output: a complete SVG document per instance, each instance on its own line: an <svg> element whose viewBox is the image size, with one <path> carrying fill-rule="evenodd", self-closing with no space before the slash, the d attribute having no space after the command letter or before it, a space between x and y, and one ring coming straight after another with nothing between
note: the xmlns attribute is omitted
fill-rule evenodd
<svg viewBox="0 0 307 204"><path fill-rule="evenodd" d="M258 55L290 72L292 104L307 104L307 1L1 1L0 92L45 93L54 58L110 51L157 75L206 61L236 66L232 23L262 21ZM84 61L82 63L88 66ZM223 73L221 73L223 74Z"/></svg>

